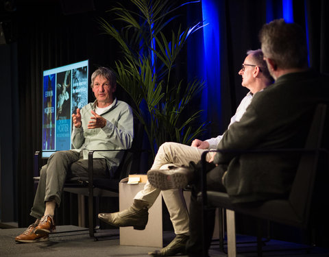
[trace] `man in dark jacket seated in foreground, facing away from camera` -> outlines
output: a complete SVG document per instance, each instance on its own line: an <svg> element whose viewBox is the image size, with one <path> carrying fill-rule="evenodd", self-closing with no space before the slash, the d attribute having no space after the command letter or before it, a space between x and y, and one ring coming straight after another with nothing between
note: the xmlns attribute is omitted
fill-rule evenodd
<svg viewBox="0 0 329 257"><path fill-rule="evenodd" d="M328 103L328 76L308 68L306 36L300 26L283 19L274 20L263 25L259 38L275 83L255 95L239 123L232 124L223 135L217 149L302 148L317 103ZM259 204L287 197L297 163L297 156L254 154L248 158L232 152L217 153L212 169L208 169L207 188L226 191L234 204ZM198 163L196 169L149 171L147 178L155 187L165 190L184 187L188 181L197 185L199 172ZM202 253L199 228L202 206L197 193L196 190L191 196L188 256ZM207 249L215 213L208 211L208 217Z"/></svg>

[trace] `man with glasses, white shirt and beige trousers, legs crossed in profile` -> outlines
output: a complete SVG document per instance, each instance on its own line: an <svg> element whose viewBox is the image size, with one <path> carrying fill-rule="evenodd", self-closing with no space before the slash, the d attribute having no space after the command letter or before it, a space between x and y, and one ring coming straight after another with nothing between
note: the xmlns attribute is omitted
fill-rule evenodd
<svg viewBox="0 0 329 257"><path fill-rule="evenodd" d="M232 123L239 121L245 112L245 109L252 101L255 93L263 90L273 82L269 75L266 62L263 60L263 52L258 49L247 51L247 57L239 71L242 76L242 86L250 91L241 101L236 110L236 114L231 119ZM223 136L210 138L202 141L195 139L191 147L179 143L164 143L160 146L154 164L151 169L167 169L168 166L188 165L188 162L197 162L206 149L215 149ZM210 160L211 155L208 155ZM127 210L115 213L100 213L99 219L117 227L134 226L135 229L144 229L148 219L148 209L151 208L158 197L160 190L151 186L147 182L142 191L136 194L133 204ZM153 256L173 256L185 252L186 241L188 240L188 212L182 199L181 191L169 190L162 191L164 202L167 205L171 222L175 231L175 238L166 247L149 253Z"/></svg>

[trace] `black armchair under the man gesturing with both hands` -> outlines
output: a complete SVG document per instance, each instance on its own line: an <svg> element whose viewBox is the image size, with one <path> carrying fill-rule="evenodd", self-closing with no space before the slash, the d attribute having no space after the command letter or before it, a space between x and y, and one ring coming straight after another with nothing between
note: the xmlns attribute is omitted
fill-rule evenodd
<svg viewBox="0 0 329 257"><path fill-rule="evenodd" d="M141 167L141 155L144 149L141 149L143 145L143 134L144 127L137 119L134 119L134 139L132 142L132 147L126 150L93 150L88 152L88 178L76 180L76 178L71 178L66 180L64 184L63 191L69 193L75 193L80 195L82 198L78 197L79 213L82 215L80 220L84 221L84 196L88 197L88 230L90 237L97 239L100 236L96 236L99 226L95 226L94 218L98 214L99 210L99 197L119 197L119 182L123 178L127 178L130 172L136 173L136 170ZM123 159L119 164L116 172L116 177L112 179L104 178L93 178L93 154L96 151L124 151ZM34 182L38 183L38 177L41 168L41 152L36 151L34 154ZM137 171L138 172L138 171ZM94 197L97 197L97 209L94 208ZM97 213L95 213L95 212ZM97 220L97 219L96 219ZM98 220L97 220L98 221ZM77 230L81 231L81 230ZM73 231L71 231L73 232Z"/></svg>

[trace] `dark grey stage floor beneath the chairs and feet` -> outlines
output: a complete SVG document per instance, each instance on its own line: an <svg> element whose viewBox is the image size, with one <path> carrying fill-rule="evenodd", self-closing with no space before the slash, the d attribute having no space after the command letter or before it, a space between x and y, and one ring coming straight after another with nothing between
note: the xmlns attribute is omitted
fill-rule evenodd
<svg viewBox="0 0 329 257"><path fill-rule="evenodd" d="M0 229L0 256L114 256L114 257L140 257L149 256L148 252L154 251L155 247L136 247L119 245L119 230L108 230L107 237L95 241L89 237L88 231L83 228L72 225L57 226L60 233L51 234L49 241L41 243L15 243L15 236L21 234L24 228ZM67 232L78 230L77 232ZM171 241L173 232L164 232L164 244ZM250 236L238 236L240 242L238 247L238 257L256 256L255 243ZM245 243L241 243L245 242ZM271 240L263 247L263 256L317 256L328 257L329 249L312 247L309 252L306 251L305 245L297 245L282 241ZM216 241L213 242L210 249L210 256L227 256L219 252L219 246Z"/></svg>

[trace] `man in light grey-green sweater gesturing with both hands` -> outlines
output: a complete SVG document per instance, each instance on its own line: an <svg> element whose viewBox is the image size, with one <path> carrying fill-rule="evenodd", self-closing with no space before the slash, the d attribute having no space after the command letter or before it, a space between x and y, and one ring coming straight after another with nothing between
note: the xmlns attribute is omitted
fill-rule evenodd
<svg viewBox="0 0 329 257"><path fill-rule="evenodd" d="M40 171L40 180L30 215L36 221L15 241L36 243L48 241L56 230L53 215L60 206L66 178L88 178L88 151L93 149L129 149L134 136L132 109L117 100L114 73L99 67L91 75L90 84L96 100L72 114L72 144L69 151L57 151ZM123 156L122 151L97 151L93 168L97 178L113 178Z"/></svg>

